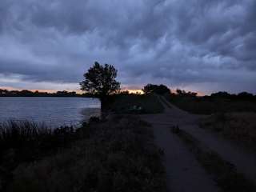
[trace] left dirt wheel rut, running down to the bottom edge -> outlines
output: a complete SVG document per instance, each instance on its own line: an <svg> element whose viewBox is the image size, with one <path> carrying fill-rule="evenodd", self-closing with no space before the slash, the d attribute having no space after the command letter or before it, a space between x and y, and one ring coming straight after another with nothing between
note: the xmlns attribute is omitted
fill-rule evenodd
<svg viewBox="0 0 256 192"><path fill-rule="evenodd" d="M173 192L219 191L218 186L199 165L194 155L177 135L170 131L170 126L180 122L184 113L181 110L170 110L170 107L164 106L164 114L147 114L141 117L152 124L156 143L165 151L168 190Z"/></svg>

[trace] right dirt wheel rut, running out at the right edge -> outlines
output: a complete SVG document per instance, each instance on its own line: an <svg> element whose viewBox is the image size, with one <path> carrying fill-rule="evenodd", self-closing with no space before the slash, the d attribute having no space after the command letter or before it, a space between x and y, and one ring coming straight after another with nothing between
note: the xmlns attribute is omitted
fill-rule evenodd
<svg viewBox="0 0 256 192"><path fill-rule="evenodd" d="M219 137L218 134L214 134L209 130L200 129L197 122L198 118L202 118L202 116L189 114L171 104L170 106L172 113L178 111L178 113L181 114L180 120L177 121L179 122L178 125L180 128L205 143L206 146L209 146L211 150L217 152L224 160L234 164L238 172L244 174L247 178L250 178L256 183L256 154L235 145L234 142ZM185 121L185 118L188 120Z"/></svg>

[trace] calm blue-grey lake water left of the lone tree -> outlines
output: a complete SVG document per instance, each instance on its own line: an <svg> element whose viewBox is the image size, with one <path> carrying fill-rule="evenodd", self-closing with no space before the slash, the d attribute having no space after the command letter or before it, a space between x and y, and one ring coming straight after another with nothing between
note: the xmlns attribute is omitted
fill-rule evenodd
<svg viewBox="0 0 256 192"><path fill-rule="evenodd" d="M0 122L30 120L52 127L77 125L100 114L96 98L1 98Z"/></svg>

